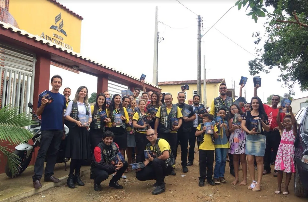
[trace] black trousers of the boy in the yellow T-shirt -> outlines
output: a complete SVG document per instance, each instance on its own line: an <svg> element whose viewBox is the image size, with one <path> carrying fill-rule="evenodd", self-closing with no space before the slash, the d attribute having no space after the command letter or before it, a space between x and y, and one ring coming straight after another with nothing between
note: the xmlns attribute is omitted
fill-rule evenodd
<svg viewBox="0 0 308 202"><path fill-rule="evenodd" d="M200 180L213 180L214 151L199 149Z"/></svg>

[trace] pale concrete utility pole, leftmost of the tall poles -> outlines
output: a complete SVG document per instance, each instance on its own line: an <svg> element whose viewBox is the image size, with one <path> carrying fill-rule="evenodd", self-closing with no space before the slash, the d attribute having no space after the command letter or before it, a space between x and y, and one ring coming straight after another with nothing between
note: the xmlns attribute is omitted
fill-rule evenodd
<svg viewBox="0 0 308 202"><path fill-rule="evenodd" d="M153 57L153 83L157 86L158 85L158 74L157 74L157 64L158 64L158 7L156 6L155 11L155 29L154 29L154 57Z"/></svg>

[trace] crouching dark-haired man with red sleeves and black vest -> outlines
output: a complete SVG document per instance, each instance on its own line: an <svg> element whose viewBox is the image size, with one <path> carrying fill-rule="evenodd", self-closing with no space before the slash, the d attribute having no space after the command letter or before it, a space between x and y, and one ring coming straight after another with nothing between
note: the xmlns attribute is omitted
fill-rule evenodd
<svg viewBox="0 0 308 202"><path fill-rule="evenodd" d="M115 135L111 131L103 133L103 142L99 143L94 148L94 155L92 160L92 174L94 176L94 190L101 191L100 183L107 180L109 175L116 172L109 182L109 187L116 189L123 189L123 186L118 184L124 171L128 168L126 161L119 161L118 164L113 165L110 163L110 158L119 152L119 148L113 142Z"/></svg>

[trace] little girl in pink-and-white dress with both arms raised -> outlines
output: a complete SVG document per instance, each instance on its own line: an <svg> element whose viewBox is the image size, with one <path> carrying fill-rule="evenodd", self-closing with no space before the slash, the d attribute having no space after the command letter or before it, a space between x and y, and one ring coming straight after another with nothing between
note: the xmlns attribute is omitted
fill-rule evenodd
<svg viewBox="0 0 308 202"><path fill-rule="evenodd" d="M279 106L278 108L282 109L282 106ZM287 106L286 108L289 109L290 115L286 115L284 117L283 123L280 122L280 113L277 115L277 123L282 131L282 135L275 161L275 170L278 171L278 188L276 189L275 194L281 193L283 172L286 172L286 184L284 187L285 190L282 192L283 195L289 194L289 183L292 173L295 172L294 141L297 133L297 124L295 116L292 112L292 107Z"/></svg>

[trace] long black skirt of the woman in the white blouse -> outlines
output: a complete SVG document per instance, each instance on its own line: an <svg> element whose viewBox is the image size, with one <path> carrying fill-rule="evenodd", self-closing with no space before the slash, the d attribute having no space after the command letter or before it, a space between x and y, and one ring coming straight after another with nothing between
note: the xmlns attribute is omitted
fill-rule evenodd
<svg viewBox="0 0 308 202"><path fill-rule="evenodd" d="M65 156L77 160L89 160L91 158L89 131L86 127L69 128Z"/></svg>

